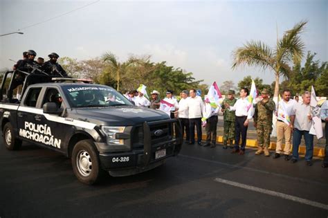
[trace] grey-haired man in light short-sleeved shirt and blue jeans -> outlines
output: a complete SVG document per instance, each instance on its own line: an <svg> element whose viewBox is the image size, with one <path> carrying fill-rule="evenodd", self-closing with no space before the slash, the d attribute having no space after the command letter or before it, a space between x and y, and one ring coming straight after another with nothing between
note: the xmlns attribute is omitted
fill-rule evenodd
<svg viewBox="0 0 328 218"><path fill-rule="evenodd" d="M291 113L291 125L293 125L293 158L292 163L298 162L298 147L302 136L304 136L305 146L307 151L305 152L305 161L308 166L312 165L313 157L313 135L309 133L312 125L311 116L311 93L305 91L302 94L303 102L298 102L294 105Z"/></svg>

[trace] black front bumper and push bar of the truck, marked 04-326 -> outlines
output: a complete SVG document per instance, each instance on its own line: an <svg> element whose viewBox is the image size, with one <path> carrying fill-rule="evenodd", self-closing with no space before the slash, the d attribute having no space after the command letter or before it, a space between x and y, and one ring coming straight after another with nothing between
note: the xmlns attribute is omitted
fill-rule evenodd
<svg viewBox="0 0 328 218"><path fill-rule="evenodd" d="M172 123L174 137L154 143L154 132L151 127L163 122ZM100 163L104 170L112 176L128 176L151 170L164 163L165 159L179 154L183 142L181 123L177 119L161 120L143 123L143 147L131 148L129 151L102 152L100 150ZM99 149L98 149L99 150Z"/></svg>

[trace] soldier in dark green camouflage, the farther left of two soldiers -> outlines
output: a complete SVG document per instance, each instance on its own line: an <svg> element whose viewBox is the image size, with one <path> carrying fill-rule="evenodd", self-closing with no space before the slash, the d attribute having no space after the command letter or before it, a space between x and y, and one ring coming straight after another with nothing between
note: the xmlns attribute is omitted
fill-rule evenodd
<svg viewBox="0 0 328 218"><path fill-rule="evenodd" d="M228 91L228 98L222 102L221 111L224 112L224 149L228 148L228 140L230 148L233 148L233 140L235 138L235 111L226 109L226 105L235 105L235 91Z"/></svg>

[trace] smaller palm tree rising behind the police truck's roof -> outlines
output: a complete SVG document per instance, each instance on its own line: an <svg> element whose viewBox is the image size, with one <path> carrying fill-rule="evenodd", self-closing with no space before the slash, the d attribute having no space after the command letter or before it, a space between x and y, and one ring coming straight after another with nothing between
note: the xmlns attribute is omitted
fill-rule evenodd
<svg viewBox="0 0 328 218"><path fill-rule="evenodd" d="M102 55L102 60L109 64L110 73L116 75L117 91L120 89L120 79L122 75L125 75L127 72L127 68L131 66L131 64L138 63L138 58L134 56L130 56L126 62L118 62L116 56L111 52L104 53L104 55Z"/></svg>

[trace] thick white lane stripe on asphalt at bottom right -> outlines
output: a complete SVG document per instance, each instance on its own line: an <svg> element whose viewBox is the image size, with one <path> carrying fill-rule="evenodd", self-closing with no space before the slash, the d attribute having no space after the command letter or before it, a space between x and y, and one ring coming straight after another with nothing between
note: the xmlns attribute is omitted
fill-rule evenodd
<svg viewBox="0 0 328 218"><path fill-rule="evenodd" d="M290 201L295 201L295 202L298 202L298 203L307 204L309 206L313 206L313 207L316 207L316 208L321 208L321 209L324 209L324 210L328 210L328 205L327 204L319 203L319 202L316 202L316 201L310 201L308 199L302 199L300 197L295 197L293 195L284 194L282 192L275 192L275 191L271 191L271 190L266 190L264 188L258 188L258 187L252 186L252 185L237 183L235 181L229 181L229 180L221 179L221 178L215 178L215 181L217 181L219 183L224 183L226 185L232 185L232 186L235 186L235 187L238 187L238 188L244 188L246 190L259 192L259 193L262 193L262 194L268 194L268 195L271 195L271 196L274 196L274 197L280 197L282 199L287 199L287 200L290 200Z"/></svg>

